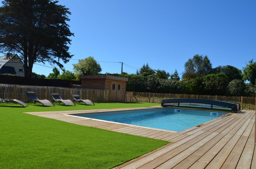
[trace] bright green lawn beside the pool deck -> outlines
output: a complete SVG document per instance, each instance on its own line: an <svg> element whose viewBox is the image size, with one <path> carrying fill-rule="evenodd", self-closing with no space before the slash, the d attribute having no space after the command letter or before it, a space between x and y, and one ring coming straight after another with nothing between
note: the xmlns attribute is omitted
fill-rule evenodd
<svg viewBox="0 0 256 169"><path fill-rule="evenodd" d="M22 112L148 107L95 103L64 107L0 104L0 168L112 168L167 142L38 117Z"/></svg>

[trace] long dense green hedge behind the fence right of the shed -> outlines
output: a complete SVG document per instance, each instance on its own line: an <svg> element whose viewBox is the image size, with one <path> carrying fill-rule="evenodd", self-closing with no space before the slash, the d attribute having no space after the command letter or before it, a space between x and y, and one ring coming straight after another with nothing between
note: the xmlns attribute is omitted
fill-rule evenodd
<svg viewBox="0 0 256 169"><path fill-rule="evenodd" d="M128 92L183 93L202 95L255 96L255 86L244 84L242 80L229 82L224 73L208 74L181 81L160 79L155 75L142 77L134 74L121 74L129 78Z"/></svg>

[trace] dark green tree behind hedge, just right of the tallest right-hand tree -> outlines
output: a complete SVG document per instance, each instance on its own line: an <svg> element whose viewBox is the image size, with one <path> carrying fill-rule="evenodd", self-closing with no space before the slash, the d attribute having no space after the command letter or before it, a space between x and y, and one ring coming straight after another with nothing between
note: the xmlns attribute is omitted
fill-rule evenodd
<svg viewBox="0 0 256 169"><path fill-rule="evenodd" d="M212 73L221 73L223 72L227 77L229 78L229 81L232 81L234 79L242 80L242 70L237 69L234 66L218 66L214 69L212 69Z"/></svg>

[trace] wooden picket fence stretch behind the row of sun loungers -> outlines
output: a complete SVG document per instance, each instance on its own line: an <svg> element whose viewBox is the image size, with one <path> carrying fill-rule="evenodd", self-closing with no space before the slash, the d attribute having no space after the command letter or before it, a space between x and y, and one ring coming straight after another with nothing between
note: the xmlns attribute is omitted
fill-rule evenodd
<svg viewBox="0 0 256 169"><path fill-rule="evenodd" d="M2 99L18 99L25 102L28 100L25 91L35 92L39 99L48 100L52 100L51 93L59 93L62 99L70 100L73 100L71 94L79 94L82 99L89 99L93 102L109 102L110 98L109 90L0 84L0 97Z"/></svg>

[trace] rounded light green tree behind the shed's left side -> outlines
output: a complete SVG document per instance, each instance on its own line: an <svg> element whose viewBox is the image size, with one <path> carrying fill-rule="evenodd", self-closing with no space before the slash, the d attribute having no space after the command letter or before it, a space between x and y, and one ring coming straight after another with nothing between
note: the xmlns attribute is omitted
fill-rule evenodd
<svg viewBox="0 0 256 169"><path fill-rule="evenodd" d="M100 64L92 56L79 59L77 64L73 64L73 69L77 75L98 75L102 70Z"/></svg>

